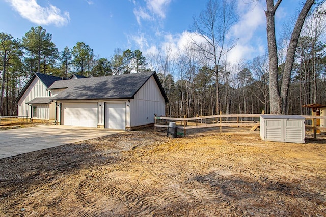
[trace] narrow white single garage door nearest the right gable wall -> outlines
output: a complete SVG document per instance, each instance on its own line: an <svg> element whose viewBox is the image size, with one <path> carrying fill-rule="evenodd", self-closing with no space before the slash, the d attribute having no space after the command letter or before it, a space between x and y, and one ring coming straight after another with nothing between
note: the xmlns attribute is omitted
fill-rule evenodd
<svg viewBox="0 0 326 217"><path fill-rule="evenodd" d="M111 129L126 128L126 103L105 104L105 127Z"/></svg>

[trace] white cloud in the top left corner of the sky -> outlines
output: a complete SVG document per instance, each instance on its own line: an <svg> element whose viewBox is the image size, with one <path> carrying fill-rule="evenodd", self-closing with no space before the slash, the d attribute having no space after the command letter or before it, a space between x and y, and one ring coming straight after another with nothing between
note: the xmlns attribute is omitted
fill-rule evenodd
<svg viewBox="0 0 326 217"><path fill-rule="evenodd" d="M70 21L68 12L61 13L56 6L49 4L41 7L36 0L7 0L21 17L38 25L67 25Z"/></svg>

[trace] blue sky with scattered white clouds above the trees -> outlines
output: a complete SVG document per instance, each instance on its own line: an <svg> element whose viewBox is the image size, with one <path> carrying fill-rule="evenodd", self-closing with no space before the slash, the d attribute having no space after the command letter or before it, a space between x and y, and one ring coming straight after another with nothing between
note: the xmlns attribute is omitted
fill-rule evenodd
<svg viewBox="0 0 326 217"><path fill-rule="evenodd" d="M281 3L277 31L300 2ZM264 0L237 4L240 19L230 37L239 41L228 54L231 62L250 60L267 47ZM146 55L167 44L180 49L191 34L193 16L205 7L204 0L0 0L0 31L22 38L32 26L41 25L59 51L82 41L100 57L111 58L115 48L140 49Z"/></svg>

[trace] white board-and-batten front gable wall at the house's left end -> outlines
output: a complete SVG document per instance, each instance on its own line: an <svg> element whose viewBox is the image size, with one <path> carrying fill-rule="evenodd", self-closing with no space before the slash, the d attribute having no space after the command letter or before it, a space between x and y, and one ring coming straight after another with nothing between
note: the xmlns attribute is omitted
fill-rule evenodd
<svg viewBox="0 0 326 217"><path fill-rule="evenodd" d="M24 92L18 103L18 116L28 116L31 118L31 106L26 104L37 97L49 97L50 94L46 90L44 83L36 76L29 88ZM37 117L34 119L49 120L49 104L35 105L37 106Z"/></svg>

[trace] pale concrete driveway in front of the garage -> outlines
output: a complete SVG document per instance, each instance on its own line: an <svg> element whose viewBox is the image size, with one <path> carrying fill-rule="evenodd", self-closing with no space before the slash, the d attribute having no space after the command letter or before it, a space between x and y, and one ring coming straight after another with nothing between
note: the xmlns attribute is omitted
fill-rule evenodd
<svg viewBox="0 0 326 217"><path fill-rule="evenodd" d="M64 125L2 130L0 131L0 159L119 132L122 131Z"/></svg>

